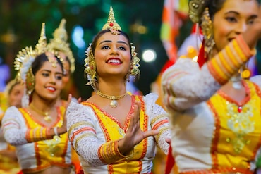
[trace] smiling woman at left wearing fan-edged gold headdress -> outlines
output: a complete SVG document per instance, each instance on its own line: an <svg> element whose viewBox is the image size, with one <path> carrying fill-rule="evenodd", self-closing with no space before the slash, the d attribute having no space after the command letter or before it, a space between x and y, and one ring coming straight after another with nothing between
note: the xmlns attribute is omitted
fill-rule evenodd
<svg viewBox="0 0 261 174"><path fill-rule="evenodd" d="M8 108L2 120L4 137L16 147L24 174L71 172L66 108L56 107L62 89L63 63L47 50L46 45L43 23L35 49L26 47L19 52L15 62L18 78L25 82L23 107Z"/></svg>

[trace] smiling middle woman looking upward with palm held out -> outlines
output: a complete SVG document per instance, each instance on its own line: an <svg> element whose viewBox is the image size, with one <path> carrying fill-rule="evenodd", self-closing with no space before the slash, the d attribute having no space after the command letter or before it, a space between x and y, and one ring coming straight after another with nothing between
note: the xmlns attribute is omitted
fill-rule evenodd
<svg viewBox="0 0 261 174"><path fill-rule="evenodd" d="M81 104L71 102L67 128L85 173L151 173L155 147L166 154L169 120L155 94L138 96L126 89L138 77L140 59L128 35L114 19L86 51L85 74L95 94Z"/></svg>

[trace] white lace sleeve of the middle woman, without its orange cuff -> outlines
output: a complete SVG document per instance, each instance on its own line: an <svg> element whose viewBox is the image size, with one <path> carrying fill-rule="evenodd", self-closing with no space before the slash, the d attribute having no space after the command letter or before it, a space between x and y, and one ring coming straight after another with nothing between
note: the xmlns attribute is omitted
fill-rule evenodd
<svg viewBox="0 0 261 174"><path fill-rule="evenodd" d="M88 166L104 165L98 156L102 145L95 131L95 113L92 108L71 102L66 111L68 137L73 149L77 151Z"/></svg>

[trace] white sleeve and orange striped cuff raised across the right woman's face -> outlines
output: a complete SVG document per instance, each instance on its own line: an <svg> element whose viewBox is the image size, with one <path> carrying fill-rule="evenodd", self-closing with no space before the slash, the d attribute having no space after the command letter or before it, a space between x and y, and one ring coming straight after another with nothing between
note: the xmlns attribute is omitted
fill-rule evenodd
<svg viewBox="0 0 261 174"><path fill-rule="evenodd" d="M162 75L166 108L170 112L184 111L207 101L251 56L253 51L239 35L202 68L190 58L178 59Z"/></svg>

